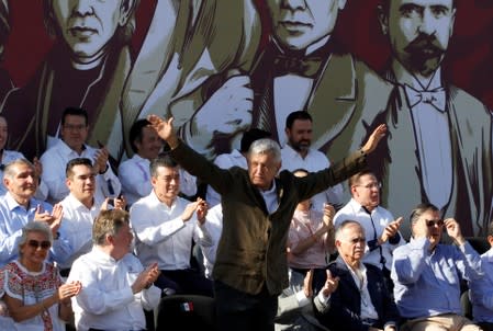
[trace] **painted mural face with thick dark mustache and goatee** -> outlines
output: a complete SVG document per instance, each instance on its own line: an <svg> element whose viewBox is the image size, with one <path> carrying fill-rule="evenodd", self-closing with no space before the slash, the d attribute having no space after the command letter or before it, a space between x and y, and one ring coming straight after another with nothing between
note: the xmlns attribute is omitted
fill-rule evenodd
<svg viewBox="0 0 493 331"><path fill-rule="evenodd" d="M455 18L452 0L390 0L380 22L399 61L411 72L428 76L447 50Z"/></svg>

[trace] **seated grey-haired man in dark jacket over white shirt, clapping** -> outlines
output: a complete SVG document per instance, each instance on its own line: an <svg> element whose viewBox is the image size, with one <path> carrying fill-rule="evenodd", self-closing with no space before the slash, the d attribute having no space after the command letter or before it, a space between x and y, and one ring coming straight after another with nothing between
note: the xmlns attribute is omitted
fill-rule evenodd
<svg viewBox="0 0 493 331"><path fill-rule="evenodd" d="M395 331L400 317L383 273L362 262L367 242L363 227L345 220L335 238L339 256L328 266L325 283L337 282L338 286L324 293L318 285L322 290L314 300L318 321L330 330Z"/></svg>

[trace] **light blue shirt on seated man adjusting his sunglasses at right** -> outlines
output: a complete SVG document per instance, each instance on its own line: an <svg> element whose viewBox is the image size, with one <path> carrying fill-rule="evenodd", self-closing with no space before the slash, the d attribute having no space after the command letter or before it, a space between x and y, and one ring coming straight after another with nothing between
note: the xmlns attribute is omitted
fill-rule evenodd
<svg viewBox="0 0 493 331"><path fill-rule="evenodd" d="M391 277L399 311L405 318L461 315L460 281L481 277L481 256L463 246L437 244L429 252L427 238L411 239L394 250Z"/></svg>

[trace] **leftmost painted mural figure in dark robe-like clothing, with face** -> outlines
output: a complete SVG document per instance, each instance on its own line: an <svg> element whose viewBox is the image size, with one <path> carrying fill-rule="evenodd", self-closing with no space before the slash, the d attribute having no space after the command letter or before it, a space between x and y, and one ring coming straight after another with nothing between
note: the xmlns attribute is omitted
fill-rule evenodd
<svg viewBox="0 0 493 331"><path fill-rule="evenodd" d="M16 130L11 145L27 158L58 137L67 106L88 110L89 144L108 144L117 158L120 94L131 68L128 44L138 0L43 0L53 48L31 80L7 95L2 113ZM109 142L113 144L109 144Z"/></svg>

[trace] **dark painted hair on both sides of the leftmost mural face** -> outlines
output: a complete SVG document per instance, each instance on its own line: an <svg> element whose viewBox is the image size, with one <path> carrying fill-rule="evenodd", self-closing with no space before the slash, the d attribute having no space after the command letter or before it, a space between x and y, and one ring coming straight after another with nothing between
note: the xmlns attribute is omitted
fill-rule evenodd
<svg viewBox="0 0 493 331"><path fill-rule="evenodd" d="M55 20L55 14L53 10L53 1L55 0L43 0L43 16L46 31L49 35L61 37L61 32L59 31L58 23ZM122 0L122 7L126 7L130 12L128 20L124 26L119 26L114 33L115 41L122 44L130 44L132 36L135 32L135 11L138 7L141 0Z"/></svg>

